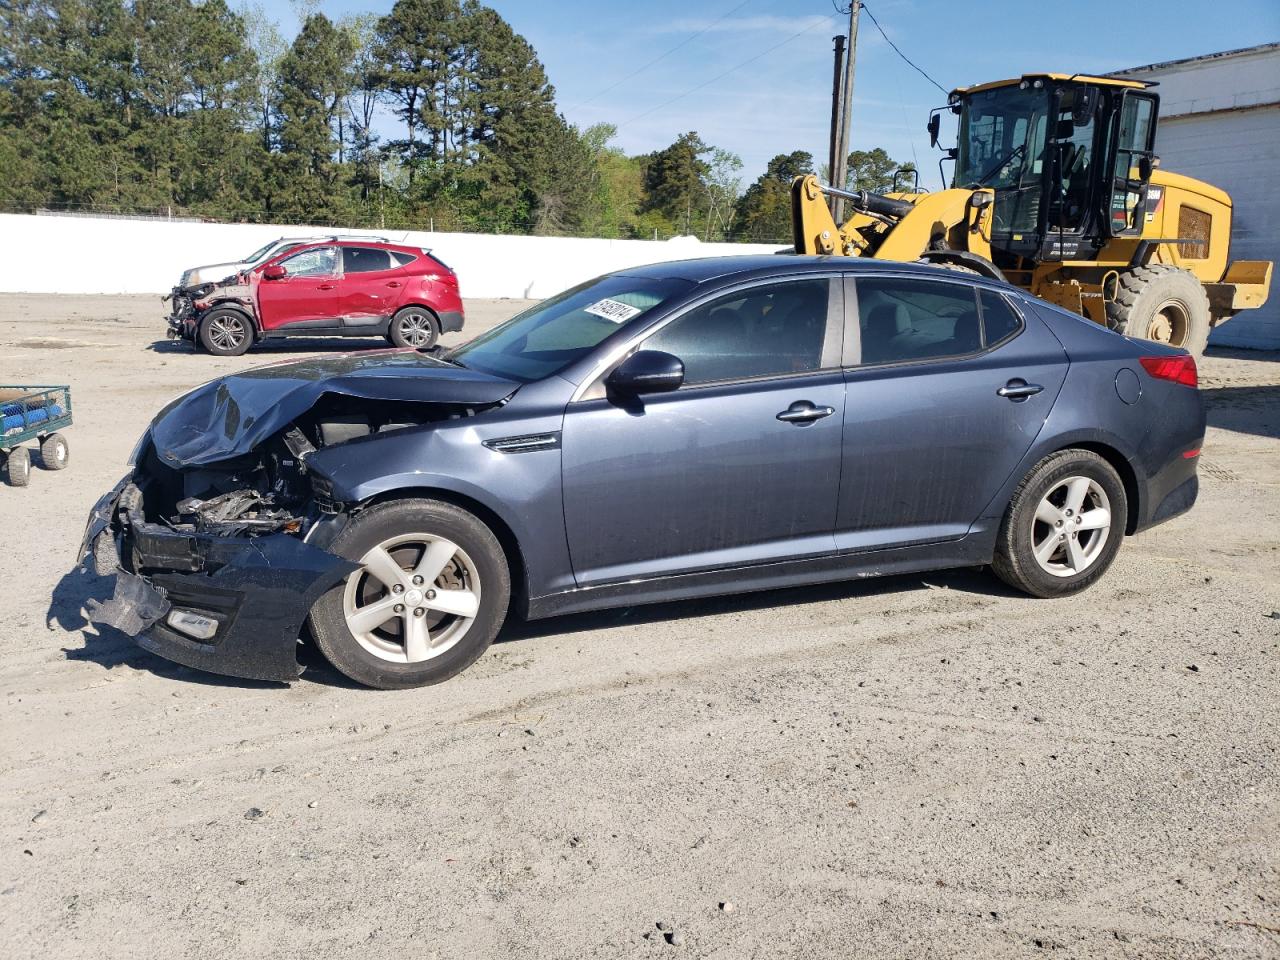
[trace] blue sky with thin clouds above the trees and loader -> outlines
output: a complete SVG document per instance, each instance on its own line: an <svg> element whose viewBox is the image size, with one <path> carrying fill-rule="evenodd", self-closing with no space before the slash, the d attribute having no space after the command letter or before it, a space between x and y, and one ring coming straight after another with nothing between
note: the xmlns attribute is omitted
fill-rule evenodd
<svg viewBox="0 0 1280 960"><path fill-rule="evenodd" d="M297 17L289 0L264 5L292 38ZM392 5L321 0L319 9L337 19L387 13ZM818 163L827 156L831 38L847 29L847 15L837 14L832 0L489 5L538 50L568 120L617 124L614 143L627 152L657 150L698 131L742 157L744 183L774 154L808 150ZM868 0L867 8L902 52L948 90L1024 72L1108 72L1280 40L1276 0ZM899 160L914 155L933 187L937 152L924 123L942 102L943 95L893 52L864 13L852 146L882 146Z"/></svg>

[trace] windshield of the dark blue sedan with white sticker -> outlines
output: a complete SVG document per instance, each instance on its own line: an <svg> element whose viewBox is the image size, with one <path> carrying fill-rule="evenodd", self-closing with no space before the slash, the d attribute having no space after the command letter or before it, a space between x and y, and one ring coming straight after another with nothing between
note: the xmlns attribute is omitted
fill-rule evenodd
<svg viewBox="0 0 1280 960"><path fill-rule="evenodd" d="M600 276L517 314L449 358L520 383L540 380L691 285L671 278Z"/></svg>

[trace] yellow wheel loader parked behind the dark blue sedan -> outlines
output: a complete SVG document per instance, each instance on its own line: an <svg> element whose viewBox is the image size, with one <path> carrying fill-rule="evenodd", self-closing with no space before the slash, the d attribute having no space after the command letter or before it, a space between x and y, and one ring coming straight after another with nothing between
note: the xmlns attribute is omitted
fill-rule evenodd
<svg viewBox="0 0 1280 960"><path fill-rule="evenodd" d="M1130 337L1204 349L1262 306L1271 264L1228 262L1231 198L1158 168L1153 84L1060 73L952 91L952 187L878 195L800 177L797 253L927 261L1007 280ZM940 164L941 166L941 164ZM852 215L837 224L828 198Z"/></svg>

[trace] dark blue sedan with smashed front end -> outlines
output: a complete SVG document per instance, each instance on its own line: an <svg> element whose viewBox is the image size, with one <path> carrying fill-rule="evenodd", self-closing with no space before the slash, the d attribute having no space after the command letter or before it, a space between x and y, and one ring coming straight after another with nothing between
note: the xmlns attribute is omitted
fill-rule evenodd
<svg viewBox="0 0 1280 960"><path fill-rule="evenodd" d="M375 687L550 617L989 564L1074 594L1196 500L1194 360L937 268L742 256L600 276L453 351L259 367L165 407L93 508L93 618Z"/></svg>

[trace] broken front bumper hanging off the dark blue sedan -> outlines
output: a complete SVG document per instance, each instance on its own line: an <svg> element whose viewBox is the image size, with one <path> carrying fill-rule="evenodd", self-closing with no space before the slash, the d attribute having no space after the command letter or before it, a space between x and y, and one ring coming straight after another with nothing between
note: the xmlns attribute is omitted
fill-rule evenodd
<svg viewBox="0 0 1280 960"><path fill-rule="evenodd" d="M248 680L298 678L298 634L312 604L357 564L284 532L218 536L148 522L124 477L90 513L81 562L115 577L90 620L187 667ZM174 623L207 626L188 636Z"/></svg>

